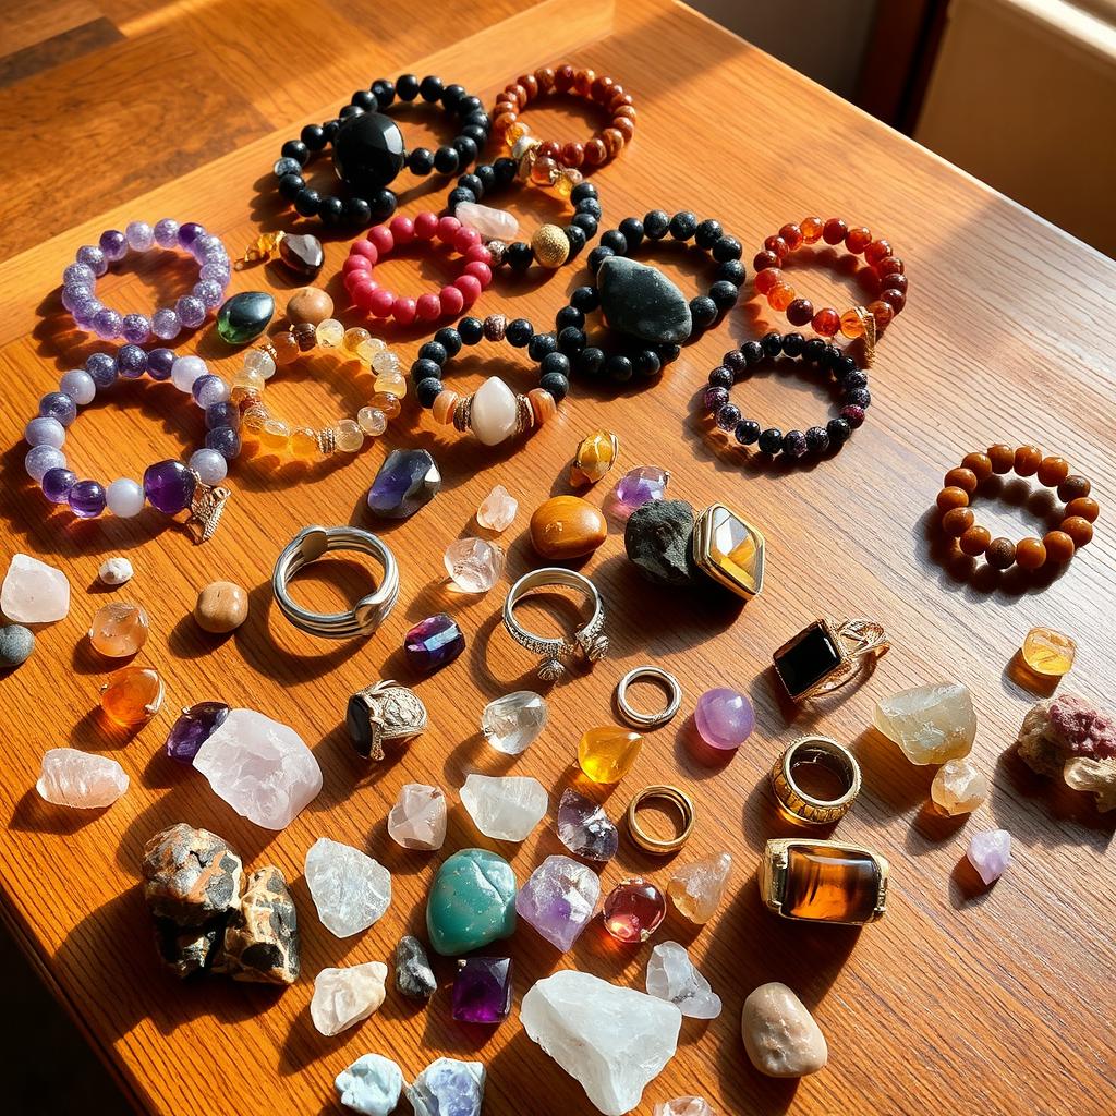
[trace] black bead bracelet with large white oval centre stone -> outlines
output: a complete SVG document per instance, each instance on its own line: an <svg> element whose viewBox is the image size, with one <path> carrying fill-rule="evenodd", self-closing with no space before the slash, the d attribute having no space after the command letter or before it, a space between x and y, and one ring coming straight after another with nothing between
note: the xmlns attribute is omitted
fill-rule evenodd
<svg viewBox="0 0 1116 1116"><path fill-rule="evenodd" d="M541 426L569 389L569 381L560 373L545 374L539 386L526 395L512 392L499 376L489 376L472 395L458 395L442 385L442 369L462 345L477 345L482 339L507 340L514 348L525 348L533 337L535 328L526 318L508 321L502 314L489 315L483 321L462 318L455 328L440 329L419 349L419 358L411 366L415 396L433 411L436 422L472 431L482 445L499 445L513 434Z"/></svg>

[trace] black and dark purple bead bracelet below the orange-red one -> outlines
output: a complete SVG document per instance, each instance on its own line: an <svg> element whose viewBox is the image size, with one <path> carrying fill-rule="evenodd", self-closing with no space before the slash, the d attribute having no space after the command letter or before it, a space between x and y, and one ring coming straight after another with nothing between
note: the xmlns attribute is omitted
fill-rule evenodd
<svg viewBox="0 0 1116 1116"><path fill-rule="evenodd" d="M800 359L824 374L833 375L843 405L837 416L825 426L811 426L805 433L791 430L786 434L776 426L762 430L758 422L745 419L740 407L729 402L729 388L738 379L749 375L763 359L780 355ZM867 373L836 345L817 337L807 340L801 334L771 333L758 341L744 341L740 348L724 354L721 364L709 374L703 402L716 425L731 433L741 445L759 443L760 452L769 456L781 452L786 458L805 458L820 456L830 449L844 445L864 422L872 395Z"/></svg>

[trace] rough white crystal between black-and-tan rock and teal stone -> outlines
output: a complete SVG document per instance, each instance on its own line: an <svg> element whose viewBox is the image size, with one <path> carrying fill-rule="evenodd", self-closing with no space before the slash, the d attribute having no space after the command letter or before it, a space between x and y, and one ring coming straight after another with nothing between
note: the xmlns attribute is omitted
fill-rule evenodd
<svg viewBox="0 0 1116 1116"><path fill-rule="evenodd" d="M338 937L367 930L391 905L392 874L352 845L319 837L305 872L321 924Z"/></svg>

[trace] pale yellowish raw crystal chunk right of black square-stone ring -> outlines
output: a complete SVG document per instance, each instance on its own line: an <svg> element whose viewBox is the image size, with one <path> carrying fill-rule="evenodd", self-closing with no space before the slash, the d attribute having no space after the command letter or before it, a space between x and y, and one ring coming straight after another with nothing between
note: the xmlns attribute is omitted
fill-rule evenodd
<svg viewBox="0 0 1116 1116"><path fill-rule="evenodd" d="M912 763L944 763L972 750L977 714L960 682L902 690L876 705L873 723Z"/></svg>

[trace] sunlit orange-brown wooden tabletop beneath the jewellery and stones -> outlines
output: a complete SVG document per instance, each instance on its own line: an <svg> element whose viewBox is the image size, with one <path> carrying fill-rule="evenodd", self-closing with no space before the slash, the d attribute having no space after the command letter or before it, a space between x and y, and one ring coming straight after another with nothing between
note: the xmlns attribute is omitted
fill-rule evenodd
<svg viewBox="0 0 1116 1116"><path fill-rule="evenodd" d="M698 401L709 368L732 344L782 325L752 300L686 348L660 383L618 394L576 385L559 417L526 448L482 451L435 432L408 401L385 444L343 468L304 472L259 456L238 462L225 522L205 547L164 529L153 511L129 521L73 522L28 483L19 444L38 396L95 347L67 329L57 291L62 267L78 244L134 218L201 220L232 250L259 225L287 227L288 215L257 189L266 185L281 140L302 121L144 196L116 195L119 204L0 268L0 414L9 446L0 557L7 566L11 552L35 554L65 569L74 587L69 617L40 632L35 657L0 680L6 918L144 1112L331 1112L334 1075L368 1050L396 1058L408 1078L437 1055L482 1059L489 1068L485 1112L493 1116L527 1104L547 1113L586 1112L579 1086L522 1031L518 1009L489 1033L454 1023L445 990L426 1010L393 993L362 1027L325 1039L307 1004L323 966L387 959L401 933L423 924L441 857L404 853L387 838L385 816L403 783L436 782L446 790L454 806L445 854L466 845L499 848L522 881L543 856L562 852L554 809L571 779L578 738L613 720L612 690L620 673L653 661L681 680L684 715L648 735L638 766L608 799L609 811L618 818L644 783L680 782L698 802L699 825L679 862L724 848L735 870L731 895L711 923L695 930L672 912L658 934L691 947L723 997L724 1012L708 1026L685 1021L677 1055L647 1088L639 1112L695 1093L722 1114L1110 1113L1116 904L1104 856L1113 820L1080 798L1052 796L1012 758L1010 745L1035 699L1014 684L1009 664L1031 625L1064 628L1080 647L1065 689L1108 698L1105 683L1116 668L1113 533L1101 519L1094 543L1052 579L998 575L951 557L927 509L944 470L995 441L1033 441L1064 453L1093 478L1101 502L1110 501L1116 268L663 0L615 12L590 0L542 4L433 57L401 58L388 71L450 75L490 98L520 71L567 55L614 74L638 98L635 143L596 177L603 228L653 208L692 208L721 219L750 259L780 224L819 212L863 221L893 241L908 263L912 298L881 346L869 422L840 454L795 469L763 464L708 431ZM305 119L336 110L347 93L347 86L323 84L325 103ZM557 116L540 110L537 119L542 131ZM570 123L584 126L584 118L575 112ZM403 210L437 205L443 196L434 186L408 192ZM550 212L537 198L517 198L520 203L527 222ZM324 273L338 297L331 277L344 253L344 240L330 243ZM701 267L673 253L663 260L687 292L696 289ZM413 269L403 259L385 273L414 288ZM421 270L423 282L434 281L436 268L423 263ZM502 278L481 309L546 323L579 280L574 270L539 285ZM186 282L185 268L140 277L128 271L106 280L106 291L138 308L151 305L155 290L166 296ZM237 289L260 286L290 283L262 268L234 280ZM816 292L816 301L847 301L855 294L852 280L824 268L804 266L801 287ZM419 343L413 334L402 339L407 359ZM208 330L198 344L221 357L220 371L231 375L238 367L239 358L223 356ZM503 368L503 357L491 358L488 368ZM484 359L481 352L461 363L455 379L475 385ZM517 383L525 375L522 368L508 372ZM343 405L355 410L367 386L346 381L326 360L281 379L275 389L280 406L292 419L319 421ZM783 429L808 425L829 406L820 389L771 375L737 394L750 413ZM500 604L509 579L535 561L525 535L530 510L551 491L567 491L574 448L598 426L619 435L620 470L667 466L671 496L699 507L723 500L759 523L768 539L767 585L744 608L656 590L624 558L616 529L583 567L608 603L613 655L551 693L546 733L522 759L508 762L477 731L487 701L531 684L532 663L502 632ZM68 450L79 473L109 479L185 454L200 433L200 415L172 387L128 384L79 419ZM334 646L302 637L270 605L271 564L309 521L369 526L364 492L394 445L431 449L445 477L427 509L385 532L403 569L401 602L367 643ZM504 581L475 600L453 597L442 584L442 551L468 530L496 482L521 504L506 537ZM602 501L612 482L589 499ZM981 507L987 522L999 521L1013 537L1031 533L1049 511L1018 494L1014 502ZM97 567L118 552L132 558L135 579L115 594L98 591ZM356 567L330 569L340 573L323 571L300 587L311 604L338 602L362 584ZM249 622L225 639L202 635L190 617L198 589L214 577L251 589ZM83 638L94 610L116 598L151 610L154 631L140 661L158 667L167 684L163 712L134 737L98 716L97 685L109 665ZM345 739L345 700L384 675L415 681L398 651L403 634L442 608L461 622L469 650L419 683L433 722L426 734L369 770ZM817 615L860 613L884 620L894 638L874 676L841 701L795 709L780 700L771 651ZM927 807L932 769L911 767L868 728L876 699L942 677L972 689L980 720L973 757L993 783L990 800L961 822L942 821ZM759 722L745 747L718 768L694 758L689 720L696 696L714 684L745 690ZM177 709L203 699L260 709L314 748L325 787L283 833L244 822L203 779L162 754ZM788 833L775 815L766 773L808 730L848 741L864 767L864 793L838 836L870 845L893 866L889 914L863 933L790 924L769 915L758 898L754 870L763 843ZM33 790L41 753L66 743L118 759L132 777L127 795L95 814L42 804ZM521 846L480 837L458 804L456 788L470 770L538 777L552 792L545 824ZM218 979L180 985L160 969L137 865L147 837L179 820L224 835L248 866L275 863L292 881L305 958L297 987L279 993ZM963 856L969 837L992 827L1011 831L1014 864L984 891L974 886ZM388 914L345 941L321 927L301 876L305 853L321 835L368 849L394 874ZM607 889L625 874L644 872L665 884L670 870L625 839L603 883ZM619 949L595 925L558 958L523 927L510 952L518 1002L531 983L562 965L642 988L650 946ZM449 964L440 965L440 975L449 981ZM799 992L829 1041L826 1070L798 1084L760 1077L741 1047L741 1003L769 980Z"/></svg>

